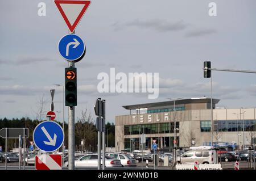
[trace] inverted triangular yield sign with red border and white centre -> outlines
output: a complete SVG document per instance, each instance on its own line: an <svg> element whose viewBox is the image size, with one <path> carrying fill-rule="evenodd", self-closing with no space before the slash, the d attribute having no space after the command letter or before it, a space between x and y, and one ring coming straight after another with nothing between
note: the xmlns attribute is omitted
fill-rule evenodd
<svg viewBox="0 0 256 181"><path fill-rule="evenodd" d="M84 16L85 11L90 5L90 1L54 1L60 14L63 16L69 31L72 33L75 31L77 25L79 24L82 16Z"/></svg>

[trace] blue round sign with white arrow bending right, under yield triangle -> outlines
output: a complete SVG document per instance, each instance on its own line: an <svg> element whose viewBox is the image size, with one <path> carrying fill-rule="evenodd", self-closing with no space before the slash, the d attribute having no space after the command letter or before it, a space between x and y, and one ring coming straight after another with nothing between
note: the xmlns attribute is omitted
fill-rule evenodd
<svg viewBox="0 0 256 181"><path fill-rule="evenodd" d="M85 54L85 44L82 39L75 34L63 36L59 41L58 48L61 57L68 61L80 61Z"/></svg>

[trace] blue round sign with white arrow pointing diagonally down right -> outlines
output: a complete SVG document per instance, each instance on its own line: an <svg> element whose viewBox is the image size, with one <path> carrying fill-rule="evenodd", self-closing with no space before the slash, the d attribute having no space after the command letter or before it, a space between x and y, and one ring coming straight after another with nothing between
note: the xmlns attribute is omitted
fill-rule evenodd
<svg viewBox="0 0 256 181"><path fill-rule="evenodd" d="M60 148L64 141L64 132L54 121L44 121L36 126L33 133L36 147L42 151L52 152Z"/></svg>

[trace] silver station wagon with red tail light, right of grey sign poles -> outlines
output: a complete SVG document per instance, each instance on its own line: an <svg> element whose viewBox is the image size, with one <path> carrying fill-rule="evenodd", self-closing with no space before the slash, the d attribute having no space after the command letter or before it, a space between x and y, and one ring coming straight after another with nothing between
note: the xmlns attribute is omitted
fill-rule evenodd
<svg viewBox="0 0 256 181"><path fill-rule="evenodd" d="M108 153L106 155L114 159L119 159L122 167L137 167L135 159L130 154Z"/></svg>

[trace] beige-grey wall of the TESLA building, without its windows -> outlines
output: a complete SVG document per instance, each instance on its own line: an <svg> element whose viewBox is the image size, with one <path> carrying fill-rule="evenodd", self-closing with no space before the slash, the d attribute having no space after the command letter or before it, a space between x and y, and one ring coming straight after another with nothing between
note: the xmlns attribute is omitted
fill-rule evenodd
<svg viewBox="0 0 256 181"><path fill-rule="evenodd" d="M244 112L244 113L243 113ZM115 116L115 148L119 151L124 149L125 138L138 138L139 134L124 135L124 125L170 123L174 121L175 112L143 113L139 115ZM247 109L222 109L213 110L214 120L255 120L255 108ZM186 110L176 111L176 121L179 121L180 131L177 136L180 138L180 146L191 146L191 137L195 138L196 146L203 145L203 142L210 142L211 132L200 131L200 121L210 120L210 110ZM240 132L240 145L250 144L251 134L255 132ZM168 137L169 133L146 134L146 137ZM171 133L174 136L174 133ZM237 142L237 132L219 132L213 134L213 142ZM245 141L243 141L245 140Z"/></svg>

